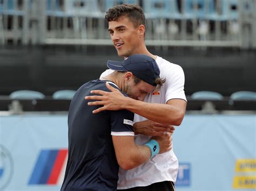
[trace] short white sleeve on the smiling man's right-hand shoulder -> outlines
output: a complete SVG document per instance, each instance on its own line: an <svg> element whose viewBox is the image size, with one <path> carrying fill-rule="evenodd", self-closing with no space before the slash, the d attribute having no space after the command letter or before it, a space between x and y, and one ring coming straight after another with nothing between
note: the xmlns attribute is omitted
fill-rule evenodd
<svg viewBox="0 0 256 191"><path fill-rule="evenodd" d="M165 94L165 103L170 99L186 99L184 92L185 75L183 69L177 65L175 72L172 73L172 77L166 78L167 91Z"/></svg>

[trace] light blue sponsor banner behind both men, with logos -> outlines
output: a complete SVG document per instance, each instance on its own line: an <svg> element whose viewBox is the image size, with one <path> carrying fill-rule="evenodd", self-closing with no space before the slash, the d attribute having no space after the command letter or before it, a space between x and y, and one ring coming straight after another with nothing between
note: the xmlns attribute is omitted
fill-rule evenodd
<svg viewBox="0 0 256 191"><path fill-rule="evenodd" d="M0 116L0 190L59 190L66 115ZM187 114L173 134L177 190L256 188L256 115Z"/></svg>

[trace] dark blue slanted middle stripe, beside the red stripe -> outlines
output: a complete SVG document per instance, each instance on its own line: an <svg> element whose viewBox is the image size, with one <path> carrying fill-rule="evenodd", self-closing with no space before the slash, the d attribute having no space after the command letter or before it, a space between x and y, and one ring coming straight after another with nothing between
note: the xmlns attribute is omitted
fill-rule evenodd
<svg viewBox="0 0 256 191"><path fill-rule="evenodd" d="M51 150L49 153L48 161L44 167L43 173L41 175L41 178L39 180L39 184L46 184L52 171L52 167L54 165L54 162L56 160L58 154L58 150Z"/></svg>

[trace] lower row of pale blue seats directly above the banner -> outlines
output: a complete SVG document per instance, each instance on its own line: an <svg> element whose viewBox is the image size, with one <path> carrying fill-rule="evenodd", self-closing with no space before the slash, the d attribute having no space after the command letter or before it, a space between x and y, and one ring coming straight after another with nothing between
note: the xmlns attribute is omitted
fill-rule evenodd
<svg viewBox="0 0 256 191"><path fill-rule="evenodd" d="M45 96L41 92L22 90L12 92L9 96L0 96L0 111L35 112L68 111L74 90L56 91ZM204 113L221 113L225 111L255 111L256 92L239 91L224 97L218 92L199 91L187 96L187 111Z"/></svg>

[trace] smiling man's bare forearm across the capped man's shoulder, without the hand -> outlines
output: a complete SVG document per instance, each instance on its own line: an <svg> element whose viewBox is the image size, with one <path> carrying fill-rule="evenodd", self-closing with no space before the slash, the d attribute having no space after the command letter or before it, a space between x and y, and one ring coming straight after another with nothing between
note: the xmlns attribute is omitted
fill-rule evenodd
<svg viewBox="0 0 256 191"><path fill-rule="evenodd" d="M185 114L184 109L178 106L146 103L131 98L126 98L122 107L149 120L167 125L180 125Z"/></svg>

